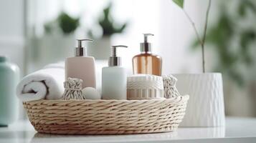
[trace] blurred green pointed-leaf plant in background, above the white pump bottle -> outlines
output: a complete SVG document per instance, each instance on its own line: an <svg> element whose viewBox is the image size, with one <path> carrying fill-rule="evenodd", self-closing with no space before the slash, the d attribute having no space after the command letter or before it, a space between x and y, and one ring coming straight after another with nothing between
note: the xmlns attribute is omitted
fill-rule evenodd
<svg viewBox="0 0 256 143"><path fill-rule="evenodd" d="M111 36L113 34L122 33L127 26L127 22L120 24L120 26L115 24L113 16L111 14L113 4L110 3L108 6L103 9L103 16L98 19L98 24L103 30L103 36ZM89 31L89 35L93 35L92 31Z"/></svg>

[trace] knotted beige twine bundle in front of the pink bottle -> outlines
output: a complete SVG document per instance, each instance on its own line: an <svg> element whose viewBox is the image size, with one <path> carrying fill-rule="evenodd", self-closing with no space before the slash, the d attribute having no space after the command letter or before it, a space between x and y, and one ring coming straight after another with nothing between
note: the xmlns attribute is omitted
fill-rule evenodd
<svg viewBox="0 0 256 143"><path fill-rule="evenodd" d="M85 97L82 96L82 79L69 77L67 81L64 82L64 88L63 100L85 99Z"/></svg>

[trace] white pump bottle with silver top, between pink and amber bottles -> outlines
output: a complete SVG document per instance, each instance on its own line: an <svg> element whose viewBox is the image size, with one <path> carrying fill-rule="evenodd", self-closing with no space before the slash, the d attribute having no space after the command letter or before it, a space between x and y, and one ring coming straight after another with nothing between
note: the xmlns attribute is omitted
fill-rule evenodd
<svg viewBox="0 0 256 143"><path fill-rule="evenodd" d="M121 57L116 56L116 48L123 45L113 46L113 56L108 59L108 66L102 70L102 96L103 99L126 99L127 74L121 66Z"/></svg>

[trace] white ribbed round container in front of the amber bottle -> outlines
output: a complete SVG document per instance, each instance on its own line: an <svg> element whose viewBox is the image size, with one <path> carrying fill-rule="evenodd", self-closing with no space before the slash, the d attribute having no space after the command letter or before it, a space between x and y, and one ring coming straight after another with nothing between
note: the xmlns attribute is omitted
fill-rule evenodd
<svg viewBox="0 0 256 143"><path fill-rule="evenodd" d="M135 74L127 78L127 99L163 98L163 77L151 74Z"/></svg>

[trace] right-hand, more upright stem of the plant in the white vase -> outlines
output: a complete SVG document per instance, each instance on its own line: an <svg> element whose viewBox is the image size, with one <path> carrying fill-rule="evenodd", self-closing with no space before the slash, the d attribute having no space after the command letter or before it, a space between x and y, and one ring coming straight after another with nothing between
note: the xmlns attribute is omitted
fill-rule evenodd
<svg viewBox="0 0 256 143"><path fill-rule="evenodd" d="M207 14L206 14L206 19L205 19L205 24L204 24L204 36L203 36L203 39L202 39L203 72L205 72L204 43L205 43L205 39L207 37L207 24L208 24L208 17L209 17L209 11L210 11L211 4L212 4L212 0L209 0L209 4L208 4L208 7L207 7Z"/></svg>

